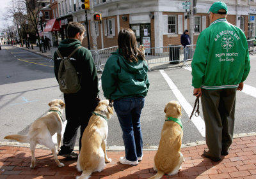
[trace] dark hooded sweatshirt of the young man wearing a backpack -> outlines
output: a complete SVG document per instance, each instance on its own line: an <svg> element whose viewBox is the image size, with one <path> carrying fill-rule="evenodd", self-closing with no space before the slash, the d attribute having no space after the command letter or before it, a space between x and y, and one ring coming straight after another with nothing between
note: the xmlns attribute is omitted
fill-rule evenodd
<svg viewBox="0 0 256 179"><path fill-rule="evenodd" d="M63 57L68 57L72 51L81 46L81 41L78 39L64 39L61 41L58 49ZM70 58L72 64L79 72L81 78L81 91L84 96L89 99L95 99L99 94L98 87L98 76L95 64L93 62L93 57L90 50L82 47L76 51L74 55ZM58 80L58 69L60 67L61 58L58 57L57 53L54 53L54 73L56 79Z"/></svg>

